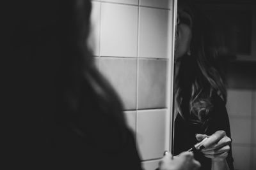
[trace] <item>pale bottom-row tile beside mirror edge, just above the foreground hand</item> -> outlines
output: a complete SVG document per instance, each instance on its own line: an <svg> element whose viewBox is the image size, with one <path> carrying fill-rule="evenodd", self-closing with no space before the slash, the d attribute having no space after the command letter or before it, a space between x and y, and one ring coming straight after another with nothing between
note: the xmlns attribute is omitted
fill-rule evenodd
<svg viewBox="0 0 256 170"><path fill-rule="evenodd" d="M137 141L142 160L157 159L168 150L166 110L137 112Z"/></svg>

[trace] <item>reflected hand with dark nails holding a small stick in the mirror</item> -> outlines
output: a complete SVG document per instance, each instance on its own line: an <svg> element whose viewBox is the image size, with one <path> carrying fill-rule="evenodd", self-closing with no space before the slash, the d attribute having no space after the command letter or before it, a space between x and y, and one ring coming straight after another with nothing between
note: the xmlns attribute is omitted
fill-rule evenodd
<svg viewBox="0 0 256 170"><path fill-rule="evenodd" d="M201 152L205 157L211 158L213 162L220 162L226 159L228 151L230 150L229 144L231 139L228 138L225 131L216 131L211 136L206 134L196 134L196 139L202 141L207 137L208 139L201 146Z"/></svg>

